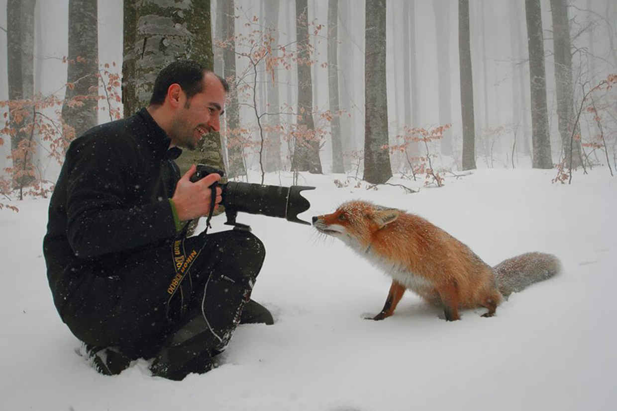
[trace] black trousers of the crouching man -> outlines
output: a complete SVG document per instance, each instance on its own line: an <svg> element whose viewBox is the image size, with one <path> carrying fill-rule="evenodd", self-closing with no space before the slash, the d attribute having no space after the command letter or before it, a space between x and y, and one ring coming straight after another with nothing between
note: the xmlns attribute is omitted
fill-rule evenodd
<svg viewBox="0 0 617 411"><path fill-rule="evenodd" d="M237 314L239 301L231 294L244 288L210 287L205 301L209 279L223 277L231 283L248 283L244 298L250 296L265 248L255 235L238 230L207 235L203 248L200 239L185 240L187 254L192 250L201 252L175 287L172 242L132 254L118 267L86 273L92 278L81 283L74 293L75 301L68 304L64 321L81 341L94 346L117 346L135 358L154 356L196 315L205 315L212 324L230 322L230 313ZM170 287L175 289L173 296ZM233 331L235 325L230 327Z"/></svg>

